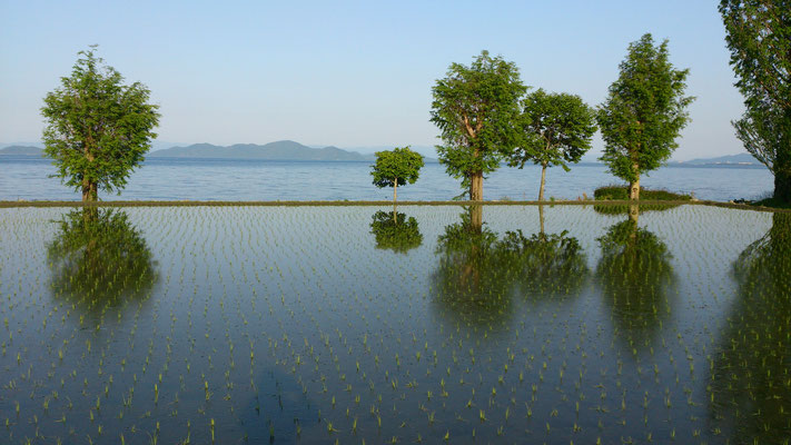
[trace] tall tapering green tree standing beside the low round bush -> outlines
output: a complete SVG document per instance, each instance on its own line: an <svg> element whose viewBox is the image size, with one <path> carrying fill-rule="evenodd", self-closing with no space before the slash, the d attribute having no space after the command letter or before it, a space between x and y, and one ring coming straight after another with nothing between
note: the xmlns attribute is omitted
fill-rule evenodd
<svg viewBox="0 0 791 445"><path fill-rule="evenodd" d="M686 107L694 98L684 89L690 70L674 69L668 56L668 40L654 46L646 33L632 42L596 113L604 138L600 159L629 182L630 199L640 199L640 175L670 159L689 122Z"/></svg>

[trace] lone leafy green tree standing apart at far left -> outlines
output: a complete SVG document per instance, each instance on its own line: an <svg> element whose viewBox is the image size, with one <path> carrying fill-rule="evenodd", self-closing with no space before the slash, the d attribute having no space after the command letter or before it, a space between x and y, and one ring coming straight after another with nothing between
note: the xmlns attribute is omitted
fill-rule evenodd
<svg viewBox="0 0 791 445"><path fill-rule="evenodd" d="M99 188L120 192L150 149L160 116L146 86L125 86L95 52L96 46L79 52L71 76L60 79L41 108L45 154L56 176L82 191L82 201L96 201Z"/></svg>

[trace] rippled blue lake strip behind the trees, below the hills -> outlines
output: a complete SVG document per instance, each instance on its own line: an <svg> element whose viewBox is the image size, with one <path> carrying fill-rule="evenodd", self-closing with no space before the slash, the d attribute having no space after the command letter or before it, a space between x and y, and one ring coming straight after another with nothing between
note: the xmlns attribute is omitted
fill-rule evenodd
<svg viewBox="0 0 791 445"><path fill-rule="evenodd" d="M216 159L149 159L136 170L120 196L100 192L103 200L387 200L389 188L374 187L368 162L293 162ZM0 200L79 200L62 186L49 160L0 157ZM541 169L502 167L484 182L487 200L533 200ZM619 184L601 165L577 165L570 172L547 170L546 196L577 199L597 187ZM773 190L765 168L664 167L642 179L644 187L693 192L699 199L754 199ZM421 179L399 187L402 200L447 200L461 192L459 181L439 164L427 164Z"/></svg>

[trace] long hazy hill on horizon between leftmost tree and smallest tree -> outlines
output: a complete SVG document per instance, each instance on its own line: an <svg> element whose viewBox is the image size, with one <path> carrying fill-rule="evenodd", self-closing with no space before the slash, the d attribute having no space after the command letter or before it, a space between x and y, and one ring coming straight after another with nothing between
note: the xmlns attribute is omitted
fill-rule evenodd
<svg viewBox="0 0 791 445"><path fill-rule="evenodd" d="M356 151L337 147L310 148L293 140L279 140L263 146L236 144L229 147L211 144L195 144L150 151L151 158L217 158L217 159L266 159L266 160L373 160Z"/></svg>

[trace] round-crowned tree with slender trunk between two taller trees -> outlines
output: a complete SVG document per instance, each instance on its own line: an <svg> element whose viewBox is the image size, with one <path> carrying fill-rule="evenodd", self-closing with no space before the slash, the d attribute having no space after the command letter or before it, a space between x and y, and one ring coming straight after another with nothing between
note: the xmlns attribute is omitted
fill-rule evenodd
<svg viewBox="0 0 791 445"><path fill-rule="evenodd" d="M541 165L538 200L543 201L546 167L561 166L568 171L567 162L580 161L591 149L595 115L579 96L540 89L525 98L520 123L522 144L511 154L508 165L518 168L527 161Z"/></svg>

